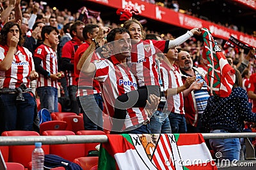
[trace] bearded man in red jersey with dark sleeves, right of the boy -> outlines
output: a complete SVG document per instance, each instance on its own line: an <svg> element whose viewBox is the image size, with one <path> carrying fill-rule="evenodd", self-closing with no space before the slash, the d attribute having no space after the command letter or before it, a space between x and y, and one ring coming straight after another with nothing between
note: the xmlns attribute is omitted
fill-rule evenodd
<svg viewBox="0 0 256 170"><path fill-rule="evenodd" d="M79 48L84 41L83 29L84 23L79 20L71 25L70 35L72 36L72 39L65 43L61 54L61 69L62 71L67 71L66 79L68 97L70 99L70 111L77 114L80 113L80 108L76 100L77 82L74 74L74 55L77 48Z"/></svg>

